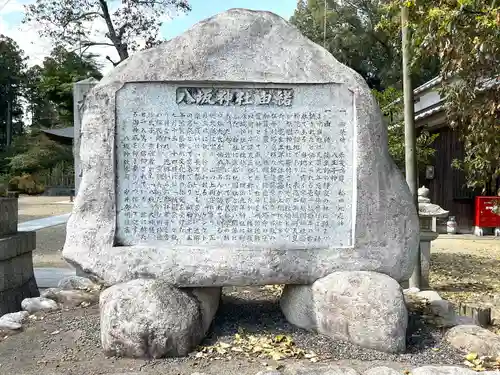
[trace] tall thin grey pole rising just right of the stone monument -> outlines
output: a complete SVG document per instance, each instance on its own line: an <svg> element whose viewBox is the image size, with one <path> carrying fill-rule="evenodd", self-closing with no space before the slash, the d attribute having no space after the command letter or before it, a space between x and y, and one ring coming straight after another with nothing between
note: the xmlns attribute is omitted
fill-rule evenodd
<svg viewBox="0 0 500 375"><path fill-rule="evenodd" d="M403 0L404 1L404 0ZM417 194L417 141L415 137L415 113L413 102L413 87L410 71L410 30L408 27L409 10L404 4L401 7L402 49L403 49L403 92L405 119L405 173L406 183L413 195L413 202L418 212ZM415 268L410 278L410 288L420 288L421 280L420 246L417 251Z"/></svg>

